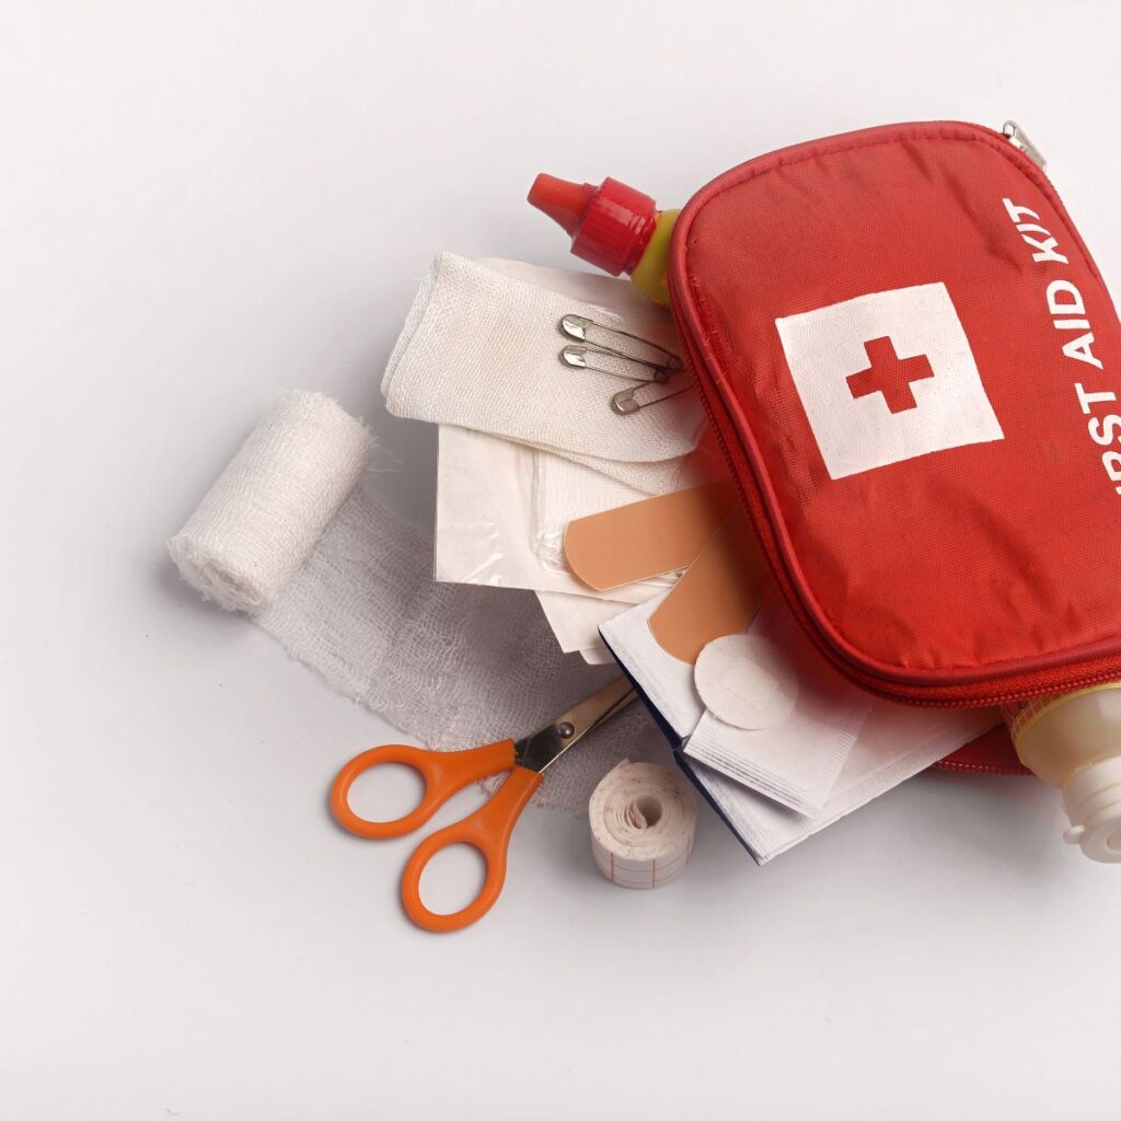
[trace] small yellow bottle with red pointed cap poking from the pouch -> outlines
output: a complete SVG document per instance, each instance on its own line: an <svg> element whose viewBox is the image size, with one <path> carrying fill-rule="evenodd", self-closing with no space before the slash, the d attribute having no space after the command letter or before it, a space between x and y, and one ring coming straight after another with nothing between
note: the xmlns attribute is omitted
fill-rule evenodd
<svg viewBox="0 0 1121 1121"><path fill-rule="evenodd" d="M572 238L577 257L612 276L628 274L645 296L669 304L666 265L680 211L659 211L649 195L618 179L594 187L545 174L529 188L529 202Z"/></svg>

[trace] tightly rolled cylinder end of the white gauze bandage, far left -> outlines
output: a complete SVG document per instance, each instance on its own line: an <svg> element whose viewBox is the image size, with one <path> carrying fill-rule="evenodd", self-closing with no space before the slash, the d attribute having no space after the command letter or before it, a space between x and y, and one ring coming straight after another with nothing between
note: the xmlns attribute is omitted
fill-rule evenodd
<svg viewBox="0 0 1121 1121"><path fill-rule="evenodd" d="M322 393L282 393L168 541L184 580L230 611L267 608L354 489L365 428Z"/></svg>

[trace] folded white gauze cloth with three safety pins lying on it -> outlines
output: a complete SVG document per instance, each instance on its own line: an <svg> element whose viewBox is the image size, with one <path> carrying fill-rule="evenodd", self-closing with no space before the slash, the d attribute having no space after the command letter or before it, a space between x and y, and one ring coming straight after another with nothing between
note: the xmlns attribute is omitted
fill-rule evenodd
<svg viewBox="0 0 1121 1121"><path fill-rule="evenodd" d="M675 351L667 313L637 294L627 302L612 325ZM631 382L560 361L567 314L604 321L603 307L442 253L386 370L390 413L591 457L617 478L627 473L612 464L664 465L692 452L704 426L696 395L618 415L611 396ZM685 371L674 377L688 383Z"/></svg>

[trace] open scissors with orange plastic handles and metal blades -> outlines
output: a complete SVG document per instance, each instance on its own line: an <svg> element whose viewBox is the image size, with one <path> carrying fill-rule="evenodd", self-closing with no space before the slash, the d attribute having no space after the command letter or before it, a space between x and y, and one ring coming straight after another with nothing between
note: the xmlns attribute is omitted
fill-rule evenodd
<svg viewBox="0 0 1121 1121"><path fill-rule="evenodd" d="M401 876L401 902L405 914L426 930L462 930L482 918L494 906L506 882L507 847L515 825L541 776L573 744L594 728L610 720L634 700L630 683L621 677L575 707L562 713L552 724L522 740L500 740L466 751L427 751L404 743L387 743L355 756L337 773L331 786L331 812L335 821L360 837L382 841L404 836L419 828L457 790L489 775L509 771L507 780L491 798L463 821L425 837L417 845ZM391 822L370 822L350 807L349 795L354 779L371 767L404 763L424 779L420 805ZM453 844L469 844L487 862L487 879L479 895L462 910L437 915L420 901L420 876L436 853Z"/></svg>

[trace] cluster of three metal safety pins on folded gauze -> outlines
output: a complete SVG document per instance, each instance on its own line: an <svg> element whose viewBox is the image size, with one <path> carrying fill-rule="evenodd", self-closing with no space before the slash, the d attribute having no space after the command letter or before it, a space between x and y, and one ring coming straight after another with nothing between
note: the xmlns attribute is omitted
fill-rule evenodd
<svg viewBox="0 0 1121 1121"><path fill-rule="evenodd" d="M669 379L685 368L677 354L664 346L633 335L619 327L608 327L590 319L586 315L565 315L560 318L560 333L576 340L560 351L560 361L577 370L592 370L605 373L611 378L621 378L634 382L629 389L620 389L609 401L612 413L619 416L630 416L660 401L687 393L691 386L661 393L658 397L646 397L646 386L664 386ZM612 346L599 335L610 335L619 340L628 340L624 346ZM642 372L639 372L642 371ZM640 392L643 396L639 396Z"/></svg>

